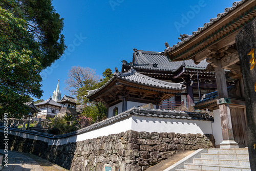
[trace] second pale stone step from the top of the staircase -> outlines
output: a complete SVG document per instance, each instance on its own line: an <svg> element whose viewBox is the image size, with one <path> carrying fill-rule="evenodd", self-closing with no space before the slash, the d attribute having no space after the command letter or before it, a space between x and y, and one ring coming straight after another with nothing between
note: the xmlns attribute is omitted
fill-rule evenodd
<svg viewBox="0 0 256 171"><path fill-rule="evenodd" d="M244 154L208 154L201 153L201 158L204 159L240 159L240 160L249 160L249 155Z"/></svg>

